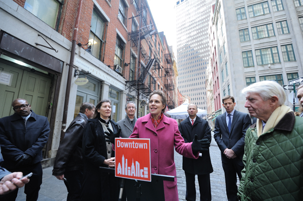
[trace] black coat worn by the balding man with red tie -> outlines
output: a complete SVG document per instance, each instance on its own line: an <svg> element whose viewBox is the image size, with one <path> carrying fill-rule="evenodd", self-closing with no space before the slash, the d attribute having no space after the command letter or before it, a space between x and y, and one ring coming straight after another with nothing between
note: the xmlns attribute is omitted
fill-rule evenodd
<svg viewBox="0 0 303 201"><path fill-rule="evenodd" d="M195 135L198 136L197 140L208 139L210 142L212 141L211 128L208 122L198 116L193 125L191 125L189 117L186 118L180 123L179 130L185 143L192 142ZM201 153L202 157L198 159L190 159L183 156L182 168L185 172L191 174L210 174L214 171L209 150Z"/></svg>

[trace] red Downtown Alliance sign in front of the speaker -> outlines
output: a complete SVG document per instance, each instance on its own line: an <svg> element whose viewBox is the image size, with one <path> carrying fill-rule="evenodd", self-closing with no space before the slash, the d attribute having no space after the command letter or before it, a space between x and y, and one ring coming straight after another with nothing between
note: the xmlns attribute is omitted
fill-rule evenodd
<svg viewBox="0 0 303 201"><path fill-rule="evenodd" d="M149 139L115 139L115 175L127 179L151 181Z"/></svg>

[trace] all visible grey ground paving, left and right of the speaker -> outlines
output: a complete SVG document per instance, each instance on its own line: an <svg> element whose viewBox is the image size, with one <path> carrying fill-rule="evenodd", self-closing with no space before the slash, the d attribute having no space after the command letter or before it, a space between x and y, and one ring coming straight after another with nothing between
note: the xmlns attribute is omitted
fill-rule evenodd
<svg viewBox="0 0 303 201"><path fill-rule="evenodd" d="M213 135L213 133L212 133ZM226 201L225 191L225 179L224 172L222 169L220 150L212 138L210 147L210 154L214 172L211 173L211 188L212 188L212 200L213 201ZM185 174L182 170L182 156L175 152L175 163L178 176L178 192L179 200L185 201L186 182ZM43 169L42 185L39 191L39 201L65 201L67 197L67 190L64 182L58 180L52 175L53 167ZM199 200L199 186L196 179L196 200ZM24 187L19 189L17 201L25 201Z"/></svg>

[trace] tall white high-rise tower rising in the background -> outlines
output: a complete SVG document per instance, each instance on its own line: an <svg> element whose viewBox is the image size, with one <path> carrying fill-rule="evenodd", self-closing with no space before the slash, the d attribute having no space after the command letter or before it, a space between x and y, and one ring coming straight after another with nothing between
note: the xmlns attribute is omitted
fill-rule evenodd
<svg viewBox="0 0 303 201"><path fill-rule="evenodd" d="M191 103L207 109L206 69L209 61L208 24L214 1L179 0L177 15L178 88Z"/></svg>

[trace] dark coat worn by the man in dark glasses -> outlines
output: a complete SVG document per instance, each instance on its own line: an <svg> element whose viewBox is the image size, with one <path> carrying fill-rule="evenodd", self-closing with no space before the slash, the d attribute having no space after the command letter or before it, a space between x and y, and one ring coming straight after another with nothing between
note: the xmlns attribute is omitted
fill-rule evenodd
<svg viewBox="0 0 303 201"><path fill-rule="evenodd" d="M22 154L31 155L31 165L42 160L42 149L47 142L49 123L45 116L35 114L27 119L14 113L0 119L0 145L4 158L3 167L15 168L17 159Z"/></svg>

